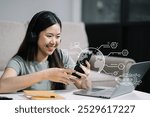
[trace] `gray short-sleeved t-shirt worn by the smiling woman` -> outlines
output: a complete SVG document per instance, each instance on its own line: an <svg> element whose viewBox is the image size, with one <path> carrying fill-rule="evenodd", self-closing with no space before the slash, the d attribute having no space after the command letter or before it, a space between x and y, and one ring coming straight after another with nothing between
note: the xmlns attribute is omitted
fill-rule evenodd
<svg viewBox="0 0 150 117"><path fill-rule="evenodd" d="M74 68L75 63L72 60L72 58L62 50L59 50L58 52L60 54L61 59L63 60L63 64L65 68ZM26 74L38 72L47 69L49 67L48 67L48 61L41 62L41 63L37 61L27 62L22 57L15 56L8 62L6 68L13 68L16 71L17 75L19 76L19 75L26 75ZM32 85L27 89L50 90L51 87L50 84L51 83L49 80L43 80L39 83Z"/></svg>

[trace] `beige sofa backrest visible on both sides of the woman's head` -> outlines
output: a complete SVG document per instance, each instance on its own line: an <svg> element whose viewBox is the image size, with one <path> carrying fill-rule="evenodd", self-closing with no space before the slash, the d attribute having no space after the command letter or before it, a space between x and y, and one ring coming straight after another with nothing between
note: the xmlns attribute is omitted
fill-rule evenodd
<svg viewBox="0 0 150 117"><path fill-rule="evenodd" d="M62 41L60 48L71 54L76 61L77 56L74 47L80 49L88 47L88 40L83 23L62 23ZM23 41L27 23L0 21L0 71L3 71L8 60L17 52ZM71 53L72 51L72 53Z"/></svg>

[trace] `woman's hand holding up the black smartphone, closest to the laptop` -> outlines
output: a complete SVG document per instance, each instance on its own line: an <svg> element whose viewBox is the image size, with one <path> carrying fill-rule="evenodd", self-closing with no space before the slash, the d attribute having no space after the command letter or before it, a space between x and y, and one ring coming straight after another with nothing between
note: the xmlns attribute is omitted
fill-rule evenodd
<svg viewBox="0 0 150 117"><path fill-rule="evenodd" d="M84 74L83 73L79 73L79 72L75 72L77 75L81 76L81 78L77 78L75 76L73 76L72 78L70 78L74 84L76 85L77 88L79 89L88 89L91 88L91 81L89 79L89 74L90 74L90 64L88 61L86 61L86 65L87 67L80 65L80 67L83 69Z"/></svg>

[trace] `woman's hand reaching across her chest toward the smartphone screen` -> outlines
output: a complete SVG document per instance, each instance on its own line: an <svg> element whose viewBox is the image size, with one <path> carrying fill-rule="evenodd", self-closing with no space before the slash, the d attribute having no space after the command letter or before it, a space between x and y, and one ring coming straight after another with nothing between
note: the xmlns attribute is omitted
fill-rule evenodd
<svg viewBox="0 0 150 117"><path fill-rule="evenodd" d="M44 78L53 82L60 82L66 85L72 83L70 80L73 70L63 68L50 68L45 70Z"/></svg>

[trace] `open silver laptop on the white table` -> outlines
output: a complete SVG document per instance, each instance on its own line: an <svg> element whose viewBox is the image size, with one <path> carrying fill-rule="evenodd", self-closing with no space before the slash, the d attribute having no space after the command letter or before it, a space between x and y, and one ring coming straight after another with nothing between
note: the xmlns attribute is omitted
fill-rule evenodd
<svg viewBox="0 0 150 117"><path fill-rule="evenodd" d="M141 82L145 73L150 68L150 61L144 61L133 64L128 74L123 76L122 80L117 82L117 85L112 88L92 88L88 90L81 89L73 92L75 95L92 96L99 98L110 99L116 96L132 92L136 86Z"/></svg>

